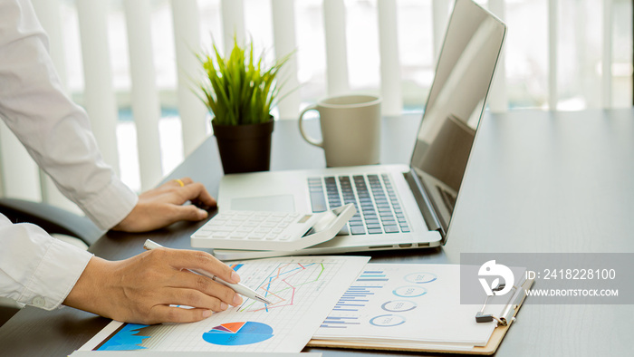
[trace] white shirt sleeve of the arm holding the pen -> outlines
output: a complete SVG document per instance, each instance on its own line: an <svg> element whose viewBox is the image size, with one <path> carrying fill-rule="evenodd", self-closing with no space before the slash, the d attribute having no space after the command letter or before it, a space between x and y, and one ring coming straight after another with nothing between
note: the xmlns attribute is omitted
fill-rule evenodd
<svg viewBox="0 0 634 357"><path fill-rule="evenodd" d="M0 294L46 310L71 292L92 255L42 228L0 215Z"/></svg>

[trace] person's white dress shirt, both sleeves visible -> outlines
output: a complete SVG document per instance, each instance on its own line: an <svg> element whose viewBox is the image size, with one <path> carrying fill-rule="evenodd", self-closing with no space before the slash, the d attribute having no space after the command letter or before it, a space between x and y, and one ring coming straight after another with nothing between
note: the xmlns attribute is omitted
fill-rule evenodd
<svg viewBox="0 0 634 357"><path fill-rule="evenodd" d="M101 158L86 112L62 92L47 37L27 0L0 0L0 118L97 226L115 226L137 204L137 195ZM39 227L0 215L0 295L53 309L90 259Z"/></svg>

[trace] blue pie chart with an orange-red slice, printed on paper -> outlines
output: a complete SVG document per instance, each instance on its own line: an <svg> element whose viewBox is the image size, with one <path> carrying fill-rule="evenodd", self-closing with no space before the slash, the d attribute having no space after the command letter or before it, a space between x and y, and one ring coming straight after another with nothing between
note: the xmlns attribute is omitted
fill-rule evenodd
<svg viewBox="0 0 634 357"><path fill-rule="evenodd" d="M241 322L223 323L211 331L203 333L203 340L207 343L222 346L241 346L244 344L261 343L273 337L273 328L266 323Z"/></svg>

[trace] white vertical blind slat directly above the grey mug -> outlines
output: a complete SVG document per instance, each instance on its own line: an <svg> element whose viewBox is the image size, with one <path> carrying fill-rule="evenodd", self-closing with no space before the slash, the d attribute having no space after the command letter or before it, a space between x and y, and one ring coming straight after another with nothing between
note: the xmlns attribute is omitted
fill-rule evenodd
<svg viewBox="0 0 634 357"><path fill-rule="evenodd" d="M345 13L346 8L343 0L323 1L328 95L350 92Z"/></svg>

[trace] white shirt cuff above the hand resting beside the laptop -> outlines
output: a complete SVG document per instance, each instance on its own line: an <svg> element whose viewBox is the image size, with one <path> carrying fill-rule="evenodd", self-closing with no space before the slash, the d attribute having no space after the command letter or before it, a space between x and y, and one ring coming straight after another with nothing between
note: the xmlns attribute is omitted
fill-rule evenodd
<svg viewBox="0 0 634 357"><path fill-rule="evenodd" d="M108 230L127 217L139 202L139 196L120 179L113 177L108 187L91 199L81 202L81 207L92 222L101 229Z"/></svg>

